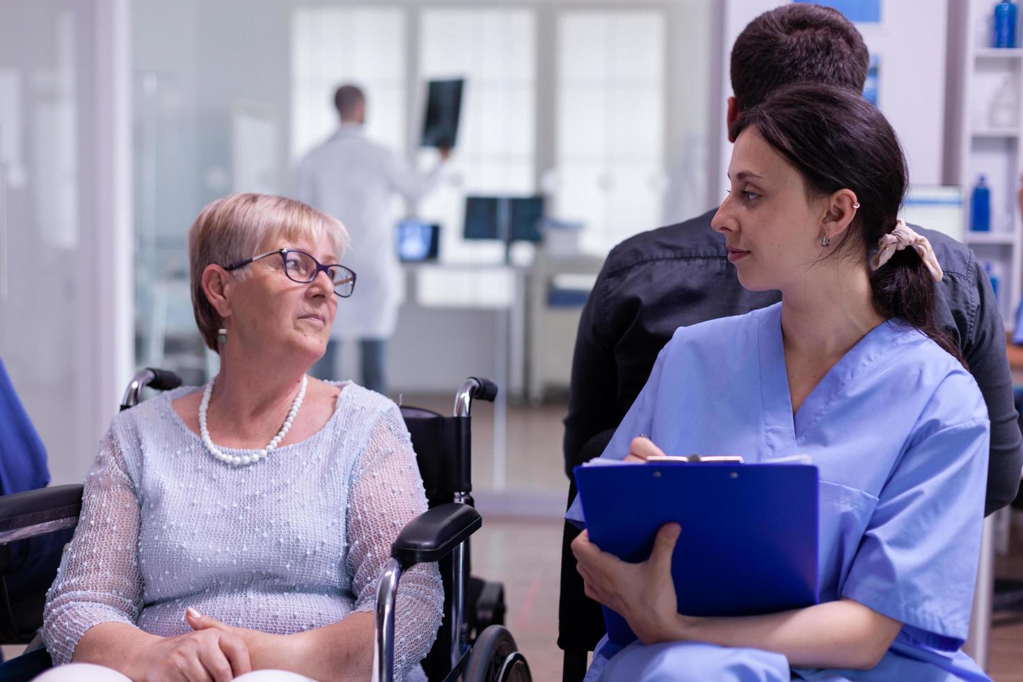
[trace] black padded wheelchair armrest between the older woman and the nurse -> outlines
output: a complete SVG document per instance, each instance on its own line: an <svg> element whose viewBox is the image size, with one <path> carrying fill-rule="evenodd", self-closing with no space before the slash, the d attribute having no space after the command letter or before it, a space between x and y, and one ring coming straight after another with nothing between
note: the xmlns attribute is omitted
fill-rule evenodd
<svg viewBox="0 0 1023 682"><path fill-rule="evenodd" d="M439 561L483 525L480 512L468 504L448 502L428 509L401 529L391 556L402 569Z"/></svg>

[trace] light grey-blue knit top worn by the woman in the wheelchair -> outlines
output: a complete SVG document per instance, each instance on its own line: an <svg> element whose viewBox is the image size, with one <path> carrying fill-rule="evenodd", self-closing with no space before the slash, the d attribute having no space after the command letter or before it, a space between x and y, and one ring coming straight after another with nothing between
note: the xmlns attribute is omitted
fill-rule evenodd
<svg viewBox="0 0 1023 682"><path fill-rule="evenodd" d="M43 641L54 663L103 622L188 632L186 606L279 634L370 610L392 541L427 501L397 406L342 385L322 429L248 466L215 459L174 412L171 401L195 388L118 415L47 597ZM397 679L418 677L443 600L435 564L402 576Z"/></svg>

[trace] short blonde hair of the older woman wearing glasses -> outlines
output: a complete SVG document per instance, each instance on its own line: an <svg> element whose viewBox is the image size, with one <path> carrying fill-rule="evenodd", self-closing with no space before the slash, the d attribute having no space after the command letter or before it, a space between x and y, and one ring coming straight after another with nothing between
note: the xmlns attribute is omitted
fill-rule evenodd
<svg viewBox="0 0 1023 682"><path fill-rule="evenodd" d="M203 291L203 271L209 265L227 266L258 255L268 238L320 241L333 244L338 260L348 248L348 232L336 218L286 196L229 194L208 203L188 230L188 267L192 310L206 345L217 350L220 315ZM249 268L234 271L248 276Z"/></svg>

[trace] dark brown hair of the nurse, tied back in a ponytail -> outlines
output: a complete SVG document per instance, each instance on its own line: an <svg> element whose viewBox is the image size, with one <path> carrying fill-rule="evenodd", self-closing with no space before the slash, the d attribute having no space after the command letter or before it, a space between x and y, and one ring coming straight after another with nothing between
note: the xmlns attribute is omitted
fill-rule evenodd
<svg viewBox="0 0 1023 682"><path fill-rule="evenodd" d="M785 156L814 195L840 189L855 193L856 217L829 258L859 249L869 267L882 235L895 229L908 177L902 148L884 115L856 92L797 83L744 111L732 137L747 128ZM881 317L905 320L966 365L955 343L934 323L934 281L916 251L895 252L870 278Z"/></svg>

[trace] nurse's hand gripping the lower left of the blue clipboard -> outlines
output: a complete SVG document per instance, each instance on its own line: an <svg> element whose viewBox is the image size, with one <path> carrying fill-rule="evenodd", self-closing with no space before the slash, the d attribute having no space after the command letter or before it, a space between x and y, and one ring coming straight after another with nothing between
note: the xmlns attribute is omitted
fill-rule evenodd
<svg viewBox="0 0 1023 682"><path fill-rule="evenodd" d="M678 524L662 526L650 558L639 563L601 551L586 531L572 541L586 596L618 611L643 644L680 639L681 617L671 579L671 554L680 533Z"/></svg>

